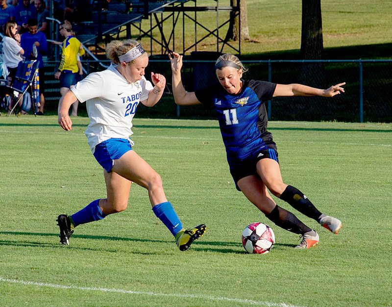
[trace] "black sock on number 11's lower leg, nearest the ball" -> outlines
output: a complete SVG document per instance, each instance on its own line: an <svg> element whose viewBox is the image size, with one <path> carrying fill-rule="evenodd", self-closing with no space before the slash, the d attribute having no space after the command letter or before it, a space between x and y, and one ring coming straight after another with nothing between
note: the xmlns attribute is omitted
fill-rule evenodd
<svg viewBox="0 0 392 307"><path fill-rule="evenodd" d="M293 213L278 205L273 208L270 214L266 214L266 217L274 222L276 226L297 234L304 234L305 232L311 231L311 229L302 223Z"/></svg>

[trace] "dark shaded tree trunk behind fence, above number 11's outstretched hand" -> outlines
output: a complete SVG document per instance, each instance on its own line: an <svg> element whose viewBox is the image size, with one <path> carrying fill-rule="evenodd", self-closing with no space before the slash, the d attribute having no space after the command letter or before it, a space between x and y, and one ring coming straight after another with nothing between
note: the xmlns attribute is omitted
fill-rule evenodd
<svg viewBox="0 0 392 307"><path fill-rule="evenodd" d="M321 0L302 0L301 57L318 60L322 51Z"/></svg>

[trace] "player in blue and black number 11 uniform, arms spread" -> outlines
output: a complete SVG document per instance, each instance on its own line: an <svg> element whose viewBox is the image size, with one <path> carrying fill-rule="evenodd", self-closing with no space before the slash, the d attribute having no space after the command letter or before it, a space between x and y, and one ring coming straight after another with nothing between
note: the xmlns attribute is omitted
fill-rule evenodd
<svg viewBox="0 0 392 307"><path fill-rule="evenodd" d="M283 96L333 97L344 92L340 83L326 90L301 84L275 84L242 79L246 72L241 61L223 54L216 61L216 75L221 85L187 92L181 81L182 55L169 55L172 65L172 88L178 105L212 104L215 107L230 173L238 190L273 223L301 234L296 248L310 248L319 242L319 234L303 224L293 213L279 207L268 190L299 212L315 219L323 227L338 233L340 220L322 214L297 188L283 182L276 144L267 131L265 101Z"/></svg>

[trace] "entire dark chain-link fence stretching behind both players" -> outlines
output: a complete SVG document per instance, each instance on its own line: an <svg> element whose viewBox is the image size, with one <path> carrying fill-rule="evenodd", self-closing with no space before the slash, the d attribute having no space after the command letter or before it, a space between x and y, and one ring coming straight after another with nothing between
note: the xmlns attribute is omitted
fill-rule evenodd
<svg viewBox="0 0 392 307"><path fill-rule="evenodd" d="M217 57L214 57L215 59ZM188 91L218 83L215 61L184 59L182 81ZM302 83L318 88L346 82L345 93L334 98L289 97L267 102L270 120L392 122L392 60L243 61L247 79ZM100 69L101 70L101 69ZM146 72L166 76L162 101L153 108L138 107L139 116L215 118L203 106L177 107L171 95L171 68L166 58L151 58ZM219 84L219 83L218 83Z"/></svg>

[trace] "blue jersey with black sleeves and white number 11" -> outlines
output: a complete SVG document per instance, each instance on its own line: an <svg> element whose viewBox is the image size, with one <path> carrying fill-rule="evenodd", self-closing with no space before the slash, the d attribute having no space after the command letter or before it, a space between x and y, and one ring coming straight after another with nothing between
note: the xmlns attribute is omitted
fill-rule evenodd
<svg viewBox="0 0 392 307"><path fill-rule="evenodd" d="M203 104L213 104L226 147L228 162L240 163L260 150L276 145L267 131L265 103L272 99L276 84L266 81L242 80L241 93L231 95L221 85L195 92Z"/></svg>

